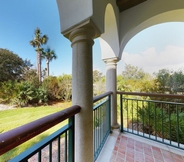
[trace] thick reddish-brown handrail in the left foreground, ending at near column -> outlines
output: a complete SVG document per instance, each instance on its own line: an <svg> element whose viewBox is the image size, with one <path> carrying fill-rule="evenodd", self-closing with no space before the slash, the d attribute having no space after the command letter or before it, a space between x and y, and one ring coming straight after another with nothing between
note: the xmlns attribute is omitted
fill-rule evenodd
<svg viewBox="0 0 184 162"><path fill-rule="evenodd" d="M80 112L78 105L0 134L0 155Z"/></svg>

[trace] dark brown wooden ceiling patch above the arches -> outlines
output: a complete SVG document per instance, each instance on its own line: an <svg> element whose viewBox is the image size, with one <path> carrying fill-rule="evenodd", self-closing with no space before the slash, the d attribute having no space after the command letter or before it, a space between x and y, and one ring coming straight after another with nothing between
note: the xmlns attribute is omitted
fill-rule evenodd
<svg viewBox="0 0 184 162"><path fill-rule="evenodd" d="M117 3L117 6L119 7L119 11L123 12L145 1L147 0L116 0L116 3Z"/></svg>

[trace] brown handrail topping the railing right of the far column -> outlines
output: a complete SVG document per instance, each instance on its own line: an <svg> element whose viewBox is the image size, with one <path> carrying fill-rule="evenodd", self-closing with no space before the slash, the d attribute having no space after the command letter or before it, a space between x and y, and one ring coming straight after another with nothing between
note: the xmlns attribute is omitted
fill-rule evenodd
<svg viewBox="0 0 184 162"><path fill-rule="evenodd" d="M117 94L132 95L132 96L149 96L149 97L165 97L165 98L173 98L173 99L184 99L184 95L175 95L175 94L120 92L120 91L118 91Z"/></svg>

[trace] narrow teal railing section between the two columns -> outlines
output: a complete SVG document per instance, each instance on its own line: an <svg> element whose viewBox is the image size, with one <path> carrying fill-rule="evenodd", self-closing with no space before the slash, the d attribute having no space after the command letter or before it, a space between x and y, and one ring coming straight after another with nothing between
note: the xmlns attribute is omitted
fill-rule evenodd
<svg viewBox="0 0 184 162"><path fill-rule="evenodd" d="M111 132L111 94L107 92L93 98L94 160L100 154Z"/></svg>

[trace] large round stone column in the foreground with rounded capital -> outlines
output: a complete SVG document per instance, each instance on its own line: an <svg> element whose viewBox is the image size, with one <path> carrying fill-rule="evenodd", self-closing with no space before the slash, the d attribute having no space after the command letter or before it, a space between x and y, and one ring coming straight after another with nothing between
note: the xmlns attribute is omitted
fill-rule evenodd
<svg viewBox="0 0 184 162"><path fill-rule="evenodd" d="M93 162L93 64L92 28L75 29L72 42L72 104L81 106L75 118L75 161Z"/></svg>

